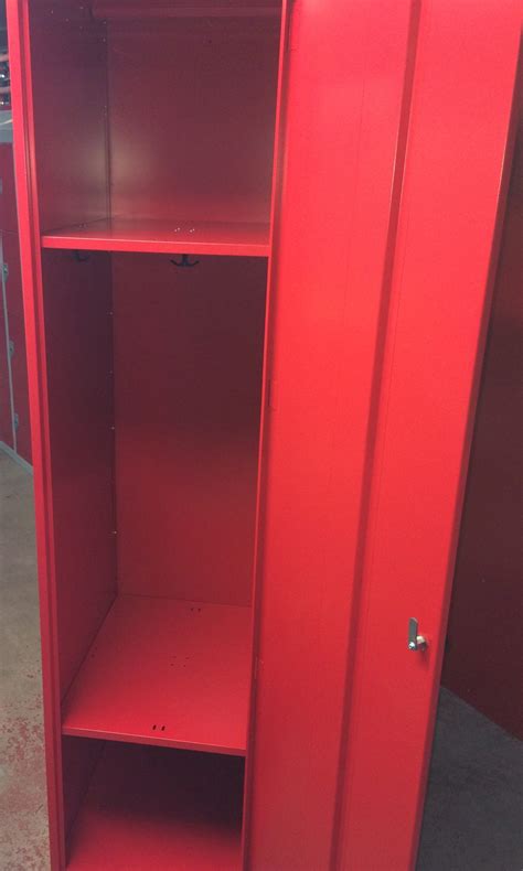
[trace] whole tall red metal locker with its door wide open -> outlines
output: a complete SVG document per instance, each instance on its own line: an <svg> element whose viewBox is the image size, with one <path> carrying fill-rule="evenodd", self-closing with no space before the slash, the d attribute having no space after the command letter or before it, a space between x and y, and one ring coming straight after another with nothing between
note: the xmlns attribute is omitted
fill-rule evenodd
<svg viewBox="0 0 523 871"><path fill-rule="evenodd" d="M8 12L53 871L407 871L519 3Z"/></svg>

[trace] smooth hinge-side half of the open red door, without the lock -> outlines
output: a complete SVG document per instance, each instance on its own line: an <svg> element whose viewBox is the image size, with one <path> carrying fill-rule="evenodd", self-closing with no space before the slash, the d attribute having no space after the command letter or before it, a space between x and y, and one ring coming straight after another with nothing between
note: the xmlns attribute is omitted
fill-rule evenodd
<svg viewBox="0 0 523 871"><path fill-rule="evenodd" d="M412 11L407 0L299 0L292 10L268 327L252 871L330 862Z"/></svg>

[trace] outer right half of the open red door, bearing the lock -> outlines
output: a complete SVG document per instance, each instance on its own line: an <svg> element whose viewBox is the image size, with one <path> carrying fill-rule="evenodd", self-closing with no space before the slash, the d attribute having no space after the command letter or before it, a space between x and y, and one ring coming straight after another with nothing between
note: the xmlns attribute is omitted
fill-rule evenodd
<svg viewBox="0 0 523 871"><path fill-rule="evenodd" d="M350 677L342 869L415 863L520 10L498 0L421 4ZM407 649L410 616L426 653Z"/></svg>

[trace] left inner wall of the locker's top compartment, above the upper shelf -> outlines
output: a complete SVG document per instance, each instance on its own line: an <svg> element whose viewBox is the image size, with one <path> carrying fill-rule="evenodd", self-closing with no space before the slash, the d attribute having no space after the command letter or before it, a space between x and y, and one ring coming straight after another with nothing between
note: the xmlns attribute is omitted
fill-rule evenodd
<svg viewBox="0 0 523 871"><path fill-rule="evenodd" d="M92 21L83 0L26 6L41 227L53 230L107 217L105 28Z"/></svg>

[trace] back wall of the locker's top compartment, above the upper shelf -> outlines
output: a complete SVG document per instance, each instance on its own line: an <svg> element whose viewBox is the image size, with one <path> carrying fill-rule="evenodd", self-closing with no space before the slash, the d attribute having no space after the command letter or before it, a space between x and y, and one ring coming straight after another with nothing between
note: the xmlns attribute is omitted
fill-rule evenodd
<svg viewBox="0 0 523 871"><path fill-rule="evenodd" d="M109 22L114 215L268 221L279 21Z"/></svg>

